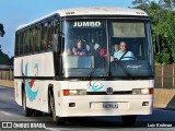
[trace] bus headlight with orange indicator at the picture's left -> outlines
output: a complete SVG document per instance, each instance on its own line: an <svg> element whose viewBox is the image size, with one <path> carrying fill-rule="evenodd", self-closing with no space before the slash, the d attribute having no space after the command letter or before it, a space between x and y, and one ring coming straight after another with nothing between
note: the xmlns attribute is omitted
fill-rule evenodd
<svg viewBox="0 0 175 131"><path fill-rule="evenodd" d="M63 96L86 95L86 90L63 90Z"/></svg>

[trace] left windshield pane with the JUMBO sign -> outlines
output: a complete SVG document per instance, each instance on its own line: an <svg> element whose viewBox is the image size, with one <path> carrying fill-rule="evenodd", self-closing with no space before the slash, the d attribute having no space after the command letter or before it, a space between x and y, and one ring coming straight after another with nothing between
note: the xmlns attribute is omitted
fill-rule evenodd
<svg viewBox="0 0 175 131"><path fill-rule="evenodd" d="M106 24L102 20L65 21L63 75L92 76L107 75ZM101 63L101 64L100 64Z"/></svg>

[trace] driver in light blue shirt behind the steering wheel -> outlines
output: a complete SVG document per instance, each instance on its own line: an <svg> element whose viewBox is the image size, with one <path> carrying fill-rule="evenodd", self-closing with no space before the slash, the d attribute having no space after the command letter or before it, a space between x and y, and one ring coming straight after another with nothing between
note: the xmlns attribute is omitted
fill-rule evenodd
<svg viewBox="0 0 175 131"><path fill-rule="evenodd" d="M121 60L136 59L131 51L127 51L127 44L125 41L120 41L119 48L120 48L120 50L114 52L114 58L117 58L118 60L121 57L122 57Z"/></svg>

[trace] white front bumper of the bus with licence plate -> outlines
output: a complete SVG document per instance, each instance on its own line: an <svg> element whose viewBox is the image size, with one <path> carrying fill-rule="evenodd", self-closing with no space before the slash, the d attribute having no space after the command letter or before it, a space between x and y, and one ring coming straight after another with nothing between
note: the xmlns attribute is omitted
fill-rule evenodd
<svg viewBox="0 0 175 131"><path fill-rule="evenodd" d="M57 105L59 117L151 115L152 95L63 96Z"/></svg>

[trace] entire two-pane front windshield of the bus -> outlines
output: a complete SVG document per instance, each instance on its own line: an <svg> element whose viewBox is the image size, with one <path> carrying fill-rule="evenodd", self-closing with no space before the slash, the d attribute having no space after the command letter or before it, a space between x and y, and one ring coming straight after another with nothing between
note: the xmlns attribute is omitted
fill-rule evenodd
<svg viewBox="0 0 175 131"><path fill-rule="evenodd" d="M148 21L67 20L62 28L63 76L153 76Z"/></svg>

